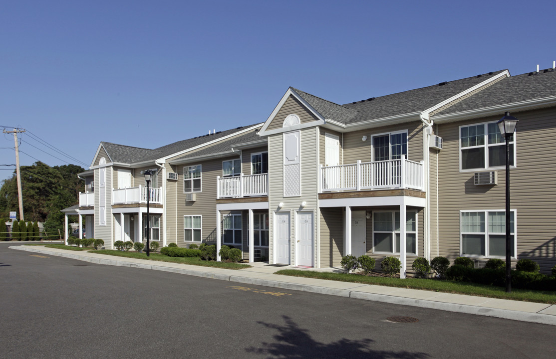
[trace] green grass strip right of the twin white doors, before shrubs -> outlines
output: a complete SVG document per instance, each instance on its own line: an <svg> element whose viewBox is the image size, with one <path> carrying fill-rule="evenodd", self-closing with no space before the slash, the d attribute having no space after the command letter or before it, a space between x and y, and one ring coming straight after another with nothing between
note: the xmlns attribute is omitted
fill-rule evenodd
<svg viewBox="0 0 556 359"><path fill-rule="evenodd" d="M364 283L377 286L420 289L433 292L458 293L515 301L556 304L556 292L513 289L512 293L506 293L505 288L503 287L486 286L468 282L452 282L448 280L420 278L400 279L390 277L371 277L343 273L299 270L281 270L276 272L276 274L294 277L319 278L331 281Z"/></svg>

